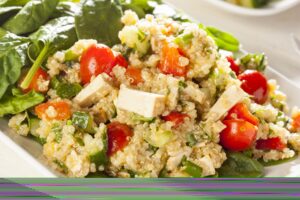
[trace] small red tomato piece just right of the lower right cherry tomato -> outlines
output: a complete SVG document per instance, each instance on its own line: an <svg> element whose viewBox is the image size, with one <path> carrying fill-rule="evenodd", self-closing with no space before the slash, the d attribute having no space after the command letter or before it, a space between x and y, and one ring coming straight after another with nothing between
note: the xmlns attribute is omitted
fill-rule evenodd
<svg viewBox="0 0 300 200"><path fill-rule="evenodd" d="M268 138L266 140L257 140L256 148L260 150L278 150L282 151L286 148L286 144L284 144L279 137Z"/></svg>

